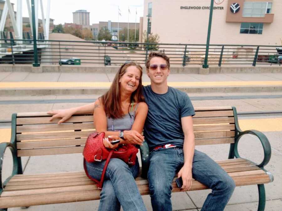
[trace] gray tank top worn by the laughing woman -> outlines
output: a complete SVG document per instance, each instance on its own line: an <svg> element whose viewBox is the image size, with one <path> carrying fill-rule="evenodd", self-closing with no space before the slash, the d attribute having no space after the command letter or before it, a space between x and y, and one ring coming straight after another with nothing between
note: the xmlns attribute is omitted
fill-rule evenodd
<svg viewBox="0 0 282 211"><path fill-rule="evenodd" d="M137 109L137 106L138 103L136 104L134 111L129 112L130 115L125 114L122 118L113 119L107 117L107 130L131 130L133 122L135 120L135 111Z"/></svg>

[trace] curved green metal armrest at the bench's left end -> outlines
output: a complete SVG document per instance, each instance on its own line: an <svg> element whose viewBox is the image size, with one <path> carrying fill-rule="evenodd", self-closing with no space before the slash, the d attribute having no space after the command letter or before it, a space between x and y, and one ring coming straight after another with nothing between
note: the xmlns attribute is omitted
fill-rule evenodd
<svg viewBox="0 0 282 211"><path fill-rule="evenodd" d="M13 172L11 176L9 176L4 182L2 182L3 159L4 159L5 150L7 148L11 150L12 155L13 155ZM18 161L17 161L17 155L16 155L16 148L14 147L12 143L9 143L9 142L0 143L0 194L2 193L3 188L8 183L8 181L17 173L18 173Z"/></svg>

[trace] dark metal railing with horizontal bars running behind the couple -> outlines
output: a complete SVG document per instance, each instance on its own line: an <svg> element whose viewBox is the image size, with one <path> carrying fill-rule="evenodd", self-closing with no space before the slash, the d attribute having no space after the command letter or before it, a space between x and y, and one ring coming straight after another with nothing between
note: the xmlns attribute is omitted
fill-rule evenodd
<svg viewBox="0 0 282 211"><path fill-rule="evenodd" d="M0 64L34 63L33 40L0 39ZM37 40L41 64L120 65L127 60L145 64L151 51L162 51L171 66L202 65L206 44L124 43L69 40ZM211 44L208 65L281 65L282 46Z"/></svg>

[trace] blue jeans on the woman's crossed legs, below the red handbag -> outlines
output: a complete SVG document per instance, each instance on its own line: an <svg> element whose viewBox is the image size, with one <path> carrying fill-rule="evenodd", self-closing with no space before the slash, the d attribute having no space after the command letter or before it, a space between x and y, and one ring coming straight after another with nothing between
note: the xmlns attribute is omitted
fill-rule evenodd
<svg viewBox="0 0 282 211"><path fill-rule="evenodd" d="M86 162L89 175L100 180L105 163L105 160L94 163ZM138 173L138 159L134 166L128 166L121 159L112 158L105 173L98 210L116 211L120 210L120 206L124 211L146 210L134 179Z"/></svg>

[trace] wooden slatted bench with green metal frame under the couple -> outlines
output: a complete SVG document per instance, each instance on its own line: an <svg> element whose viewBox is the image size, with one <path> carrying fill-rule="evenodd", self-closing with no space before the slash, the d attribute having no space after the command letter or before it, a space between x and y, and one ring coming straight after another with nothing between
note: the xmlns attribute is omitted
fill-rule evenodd
<svg viewBox="0 0 282 211"><path fill-rule="evenodd" d="M271 148L266 136L255 130L242 132L234 107L196 108L195 110L193 123L196 145L230 144L228 159L217 161L217 163L234 179L236 186L258 184L259 210L264 210L264 183L273 181L272 174L264 169L271 156ZM100 198L100 190L93 181L87 178L84 171L23 174L21 157L82 153L88 134L94 130L91 114L75 115L61 125L57 124L58 119L52 122L49 119L50 115L46 113L12 115L11 141L0 144L1 174L5 149L10 148L13 154L13 173L4 182L1 180L3 189L0 191L0 208L3 210L10 207L28 207ZM262 143L264 160L260 164L243 159L238 154L238 142L244 134L248 133L257 136ZM149 151L145 146L146 144L141 150L144 177L146 177L146 169L149 165ZM136 183L142 195L149 194L147 179L138 176ZM172 192L180 191L175 182L172 183L172 186ZM201 189L207 189L207 187L194 180L191 190Z"/></svg>

